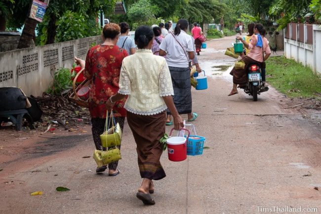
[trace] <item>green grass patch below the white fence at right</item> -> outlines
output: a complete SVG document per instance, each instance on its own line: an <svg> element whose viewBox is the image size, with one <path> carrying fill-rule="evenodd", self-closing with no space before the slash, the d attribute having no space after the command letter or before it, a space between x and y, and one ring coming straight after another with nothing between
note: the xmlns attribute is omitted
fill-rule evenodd
<svg viewBox="0 0 321 214"><path fill-rule="evenodd" d="M321 77L292 59L270 57L266 61L267 81L289 97L321 95Z"/></svg>

